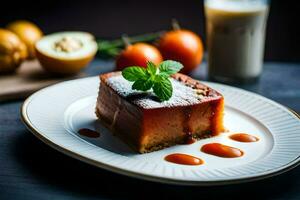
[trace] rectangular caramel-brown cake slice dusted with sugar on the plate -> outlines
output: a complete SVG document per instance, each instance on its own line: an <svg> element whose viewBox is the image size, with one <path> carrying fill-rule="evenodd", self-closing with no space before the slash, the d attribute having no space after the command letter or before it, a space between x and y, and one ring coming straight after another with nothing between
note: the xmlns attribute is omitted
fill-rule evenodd
<svg viewBox="0 0 300 200"><path fill-rule="evenodd" d="M223 96L183 74L170 79L173 95L161 102L152 92L132 90L121 72L100 75L98 118L140 153L222 132Z"/></svg>

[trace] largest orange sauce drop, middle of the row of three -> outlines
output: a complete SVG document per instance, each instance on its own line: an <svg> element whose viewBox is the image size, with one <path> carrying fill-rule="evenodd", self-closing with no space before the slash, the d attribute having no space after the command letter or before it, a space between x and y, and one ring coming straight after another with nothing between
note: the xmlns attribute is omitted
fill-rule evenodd
<svg viewBox="0 0 300 200"><path fill-rule="evenodd" d="M210 143L202 146L201 151L223 158L236 158L241 157L244 153L242 150L220 143Z"/></svg>

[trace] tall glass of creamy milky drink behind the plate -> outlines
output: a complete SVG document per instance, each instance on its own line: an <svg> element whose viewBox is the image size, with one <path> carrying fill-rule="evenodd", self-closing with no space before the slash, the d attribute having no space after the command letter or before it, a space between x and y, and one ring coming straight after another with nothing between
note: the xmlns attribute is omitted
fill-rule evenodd
<svg viewBox="0 0 300 200"><path fill-rule="evenodd" d="M262 71L267 0L205 0L208 73L220 82L248 82Z"/></svg>

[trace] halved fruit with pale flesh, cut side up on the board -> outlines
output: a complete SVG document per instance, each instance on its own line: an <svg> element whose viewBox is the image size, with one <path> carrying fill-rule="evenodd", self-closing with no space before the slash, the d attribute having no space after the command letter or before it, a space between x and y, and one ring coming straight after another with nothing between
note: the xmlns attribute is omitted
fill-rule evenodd
<svg viewBox="0 0 300 200"><path fill-rule="evenodd" d="M60 32L44 36L35 44L36 56L49 72L74 74L86 67L97 52L93 35Z"/></svg>

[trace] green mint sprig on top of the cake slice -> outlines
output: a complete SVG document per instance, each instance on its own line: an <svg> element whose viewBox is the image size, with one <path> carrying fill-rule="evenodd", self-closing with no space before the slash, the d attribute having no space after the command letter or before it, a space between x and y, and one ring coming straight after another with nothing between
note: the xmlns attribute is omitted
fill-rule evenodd
<svg viewBox="0 0 300 200"><path fill-rule="evenodd" d="M132 66L122 71L122 76L134 82L132 89L148 91L153 89L154 94L161 100L167 101L173 93L172 83L169 77L179 72L183 65L173 60L166 60L156 66L153 62L147 62L147 68Z"/></svg>

